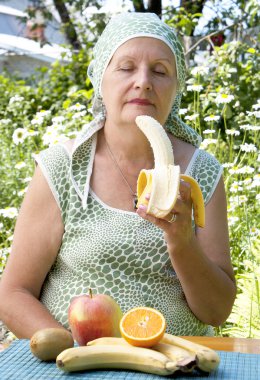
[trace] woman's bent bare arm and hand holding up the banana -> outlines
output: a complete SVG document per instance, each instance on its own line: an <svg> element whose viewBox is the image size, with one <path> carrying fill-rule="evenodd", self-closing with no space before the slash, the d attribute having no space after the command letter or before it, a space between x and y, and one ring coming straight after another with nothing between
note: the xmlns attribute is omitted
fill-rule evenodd
<svg viewBox="0 0 260 380"><path fill-rule="evenodd" d="M145 215L144 210L138 213L164 230L173 268L193 313L218 326L230 314L236 296L223 179L206 206L206 226L196 235L191 230L190 188L182 185L181 193L174 223Z"/></svg>

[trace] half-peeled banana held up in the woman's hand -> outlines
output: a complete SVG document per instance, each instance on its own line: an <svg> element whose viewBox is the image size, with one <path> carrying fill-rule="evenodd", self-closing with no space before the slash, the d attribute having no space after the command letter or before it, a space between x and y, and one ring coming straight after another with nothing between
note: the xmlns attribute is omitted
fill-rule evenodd
<svg viewBox="0 0 260 380"><path fill-rule="evenodd" d="M154 168L143 169L137 180L138 203L147 205L147 213L165 218L174 208L179 193L180 180L191 185L191 199L195 224L205 226L204 200L199 184L190 176L180 173L174 165L172 145L164 128L151 116L137 116L136 124L149 140L154 154ZM150 194L149 201L145 198Z"/></svg>

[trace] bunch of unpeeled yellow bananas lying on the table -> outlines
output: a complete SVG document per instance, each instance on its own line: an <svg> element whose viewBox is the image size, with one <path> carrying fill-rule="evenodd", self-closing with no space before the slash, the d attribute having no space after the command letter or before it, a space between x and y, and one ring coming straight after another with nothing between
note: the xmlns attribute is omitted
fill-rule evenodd
<svg viewBox="0 0 260 380"><path fill-rule="evenodd" d="M128 369L161 376L200 369L211 372L219 365L218 354L189 340L164 334L152 348L134 347L123 338L98 338L87 346L68 348L56 359L66 372L93 369Z"/></svg>

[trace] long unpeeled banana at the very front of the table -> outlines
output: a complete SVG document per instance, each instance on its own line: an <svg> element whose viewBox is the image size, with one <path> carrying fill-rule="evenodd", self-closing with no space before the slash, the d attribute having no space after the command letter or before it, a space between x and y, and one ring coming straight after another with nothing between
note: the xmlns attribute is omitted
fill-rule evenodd
<svg viewBox="0 0 260 380"><path fill-rule="evenodd" d="M178 370L175 362L148 348L131 345L96 345L69 348L56 359L66 372L92 369L129 369L166 376Z"/></svg>

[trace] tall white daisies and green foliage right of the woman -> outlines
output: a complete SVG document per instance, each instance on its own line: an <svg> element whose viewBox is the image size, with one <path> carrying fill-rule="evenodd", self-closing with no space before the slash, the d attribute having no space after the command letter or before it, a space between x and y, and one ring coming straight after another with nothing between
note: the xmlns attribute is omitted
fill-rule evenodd
<svg viewBox="0 0 260 380"><path fill-rule="evenodd" d="M224 168L238 295L217 332L259 338L259 54L232 41L204 59L190 70L181 113Z"/></svg>

